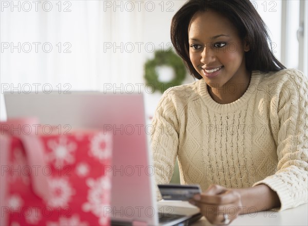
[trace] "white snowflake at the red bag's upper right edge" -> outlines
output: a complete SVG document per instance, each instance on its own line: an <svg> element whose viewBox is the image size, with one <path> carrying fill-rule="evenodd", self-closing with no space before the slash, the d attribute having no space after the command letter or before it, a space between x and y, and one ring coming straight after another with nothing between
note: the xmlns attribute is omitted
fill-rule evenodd
<svg viewBox="0 0 308 226"><path fill-rule="evenodd" d="M110 158L112 150L111 135L99 133L91 139L89 155L101 162Z"/></svg>

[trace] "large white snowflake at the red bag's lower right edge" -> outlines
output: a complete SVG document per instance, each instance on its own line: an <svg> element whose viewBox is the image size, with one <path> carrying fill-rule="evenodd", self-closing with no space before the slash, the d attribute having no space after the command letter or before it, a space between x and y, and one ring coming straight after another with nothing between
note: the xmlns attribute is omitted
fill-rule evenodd
<svg viewBox="0 0 308 226"><path fill-rule="evenodd" d="M108 224L109 217L106 217L106 214L104 216L104 207L110 205L111 183L109 177L100 177L97 180L89 178L86 183L90 189L87 195L88 202L82 205L82 210L99 217L101 225Z"/></svg>

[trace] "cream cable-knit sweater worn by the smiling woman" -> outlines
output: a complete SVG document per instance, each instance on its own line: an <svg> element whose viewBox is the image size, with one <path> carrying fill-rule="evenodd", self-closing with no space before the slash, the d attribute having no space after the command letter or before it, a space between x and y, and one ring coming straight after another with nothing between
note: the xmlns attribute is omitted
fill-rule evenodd
<svg viewBox="0 0 308 226"><path fill-rule="evenodd" d="M244 95L230 104L211 99L203 79L172 87L152 124L157 184L169 183L178 157L182 184L204 191L263 183L277 192L279 210L307 202L307 79L300 71L253 71Z"/></svg>

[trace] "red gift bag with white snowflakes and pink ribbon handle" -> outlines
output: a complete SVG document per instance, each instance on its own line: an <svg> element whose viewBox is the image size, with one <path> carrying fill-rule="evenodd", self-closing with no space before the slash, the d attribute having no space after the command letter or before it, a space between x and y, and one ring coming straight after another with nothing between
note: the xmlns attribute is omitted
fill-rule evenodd
<svg viewBox="0 0 308 226"><path fill-rule="evenodd" d="M112 136L1 123L1 225L110 225Z"/></svg>

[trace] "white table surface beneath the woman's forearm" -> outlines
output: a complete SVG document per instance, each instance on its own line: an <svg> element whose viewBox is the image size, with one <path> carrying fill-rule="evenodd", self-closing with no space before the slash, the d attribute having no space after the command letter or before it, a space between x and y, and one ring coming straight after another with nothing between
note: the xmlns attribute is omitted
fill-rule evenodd
<svg viewBox="0 0 308 226"><path fill-rule="evenodd" d="M166 201L161 201L166 202ZM182 201L168 201L170 206L191 206L188 202ZM284 210L281 212L276 211L262 211L251 214L239 215L229 225L308 225L308 204L297 206L293 209ZM202 217L197 222L191 224L193 226L213 225L209 223L205 217Z"/></svg>

